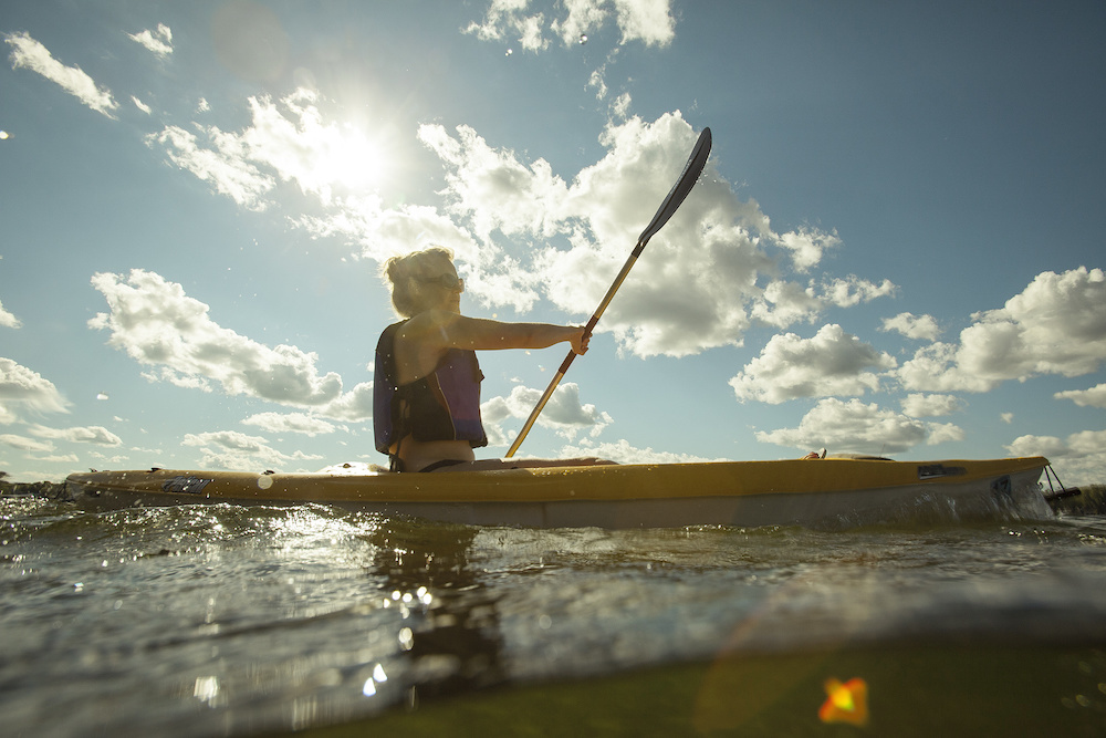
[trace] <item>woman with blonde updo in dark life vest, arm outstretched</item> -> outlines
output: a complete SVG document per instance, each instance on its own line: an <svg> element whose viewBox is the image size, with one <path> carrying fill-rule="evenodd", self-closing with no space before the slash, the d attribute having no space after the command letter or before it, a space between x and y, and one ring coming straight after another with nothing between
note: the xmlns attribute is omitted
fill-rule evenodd
<svg viewBox="0 0 1106 738"><path fill-rule="evenodd" d="M376 448L393 471L461 471L595 464L595 459L476 460L488 445L480 422L476 351L545 349L567 342L587 351L583 328L500 323L461 315L465 282L440 247L389 259L382 270L392 304L405 320L384 330L376 347Z"/></svg>

